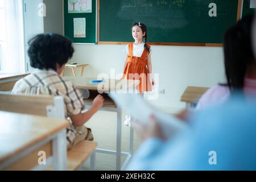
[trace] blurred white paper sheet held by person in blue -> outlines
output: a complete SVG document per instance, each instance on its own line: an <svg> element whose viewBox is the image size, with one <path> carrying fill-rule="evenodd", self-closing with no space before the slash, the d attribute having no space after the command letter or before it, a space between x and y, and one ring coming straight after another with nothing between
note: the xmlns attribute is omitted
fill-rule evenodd
<svg viewBox="0 0 256 182"><path fill-rule="evenodd" d="M159 121L160 127L166 137L171 137L179 131L188 130L187 123L180 119L156 110L139 94L110 93L109 96L118 106L125 107L127 111L139 122L147 123L150 115L154 115Z"/></svg>

